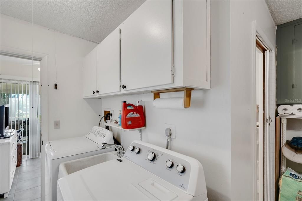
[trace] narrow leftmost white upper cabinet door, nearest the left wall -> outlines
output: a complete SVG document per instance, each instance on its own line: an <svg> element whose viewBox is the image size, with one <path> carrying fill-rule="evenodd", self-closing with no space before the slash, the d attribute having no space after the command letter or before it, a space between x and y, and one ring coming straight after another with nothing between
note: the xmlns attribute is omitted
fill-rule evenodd
<svg viewBox="0 0 302 201"><path fill-rule="evenodd" d="M84 97L96 95L97 49L93 49L83 59ZM93 93L94 92L94 93Z"/></svg>

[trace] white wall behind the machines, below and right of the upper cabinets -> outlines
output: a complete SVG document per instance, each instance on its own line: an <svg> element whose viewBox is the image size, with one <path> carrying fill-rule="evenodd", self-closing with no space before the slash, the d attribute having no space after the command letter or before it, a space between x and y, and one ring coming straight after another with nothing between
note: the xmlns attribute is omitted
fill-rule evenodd
<svg viewBox="0 0 302 201"><path fill-rule="evenodd" d="M210 200L230 200L231 190L229 5L211 2L211 89L193 91L189 109L156 109L151 93L104 98L102 103L103 108L114 110L116 119L121 101L146 101L143 141L161 147L165 147L165 123L174 124L176 139L172 139L171 149L201 162ZM183 93L161 94L165 96L181 97ZM127 148L139 136L138 131L123 132L117 139Z"/></svg>

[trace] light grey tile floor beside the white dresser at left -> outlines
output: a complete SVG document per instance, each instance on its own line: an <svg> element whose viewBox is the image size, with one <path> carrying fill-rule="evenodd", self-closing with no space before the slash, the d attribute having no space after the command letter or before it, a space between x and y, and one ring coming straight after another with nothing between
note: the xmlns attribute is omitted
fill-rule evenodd
<svg viewBox="0 0 302 201"><path fill-rule="evenodd" d="M7 198L0 196L0 201L38 201L40 200L40 158L27 159L16 168L11 191Z"/></svg>

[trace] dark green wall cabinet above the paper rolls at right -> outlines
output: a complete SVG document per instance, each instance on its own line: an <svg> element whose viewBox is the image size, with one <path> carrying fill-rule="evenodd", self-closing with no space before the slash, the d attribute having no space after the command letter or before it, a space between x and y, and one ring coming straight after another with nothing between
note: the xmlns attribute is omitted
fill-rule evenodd
<svg viewBox="0 0 302 201"><path fill-rule="evenodd" d="M277 26L277 104L302 103L302 18Z"/></svg>

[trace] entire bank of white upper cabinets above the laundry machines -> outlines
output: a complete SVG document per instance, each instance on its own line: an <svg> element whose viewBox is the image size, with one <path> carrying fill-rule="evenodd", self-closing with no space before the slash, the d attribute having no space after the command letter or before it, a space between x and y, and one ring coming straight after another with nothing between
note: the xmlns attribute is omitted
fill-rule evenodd
<svg viewBox="0 0 302 201"><path fill-rule="evenodd" d="M209 0L146 0L84 58L84 97L182 87L210 89Z"/></svg>

